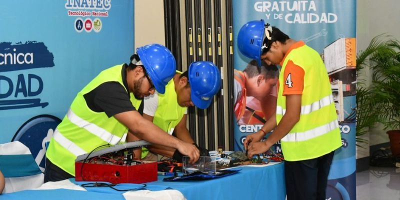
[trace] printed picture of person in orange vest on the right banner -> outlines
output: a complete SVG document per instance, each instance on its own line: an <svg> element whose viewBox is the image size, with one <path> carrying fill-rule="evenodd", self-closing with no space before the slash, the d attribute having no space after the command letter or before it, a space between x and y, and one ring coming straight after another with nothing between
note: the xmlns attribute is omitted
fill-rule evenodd
<svg viewBox="0 0 400 200"><path fill-rule="evenodd" d="M233 102L237 124L263 124L276 108L278 69L256 60L234 69Z"/></svg>

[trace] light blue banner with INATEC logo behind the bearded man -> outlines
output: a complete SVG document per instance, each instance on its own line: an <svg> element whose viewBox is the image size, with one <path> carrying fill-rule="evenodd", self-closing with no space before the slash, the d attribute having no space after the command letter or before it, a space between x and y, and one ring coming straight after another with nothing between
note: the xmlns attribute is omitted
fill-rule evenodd
<svg viewBox="0 0 400 200"><path fill-rule="evenodd" d="M44 166L45 141L76 93L133 53L132 0L1 0L0 143Z"/></svg>

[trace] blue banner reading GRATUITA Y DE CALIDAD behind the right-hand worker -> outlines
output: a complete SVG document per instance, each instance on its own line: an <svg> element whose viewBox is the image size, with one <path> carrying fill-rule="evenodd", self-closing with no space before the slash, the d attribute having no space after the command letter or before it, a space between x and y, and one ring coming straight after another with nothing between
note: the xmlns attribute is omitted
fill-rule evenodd
<svg viewBox="0 0 400 200"><path fill-rule="evenodd" d="M321 54L331 80L342 138L331 165L326 199L355 199L356 0L234 0L233 13L234 41L244 23L264 19ZM276 108L276 92L270 87L258 92L243 90L241 74L252 65L234 44L234 150L242 150L246 135L259 130ZM273 86L277 76L264 74ZM275 144L275 151L280 150L280 144Z"/></svg>

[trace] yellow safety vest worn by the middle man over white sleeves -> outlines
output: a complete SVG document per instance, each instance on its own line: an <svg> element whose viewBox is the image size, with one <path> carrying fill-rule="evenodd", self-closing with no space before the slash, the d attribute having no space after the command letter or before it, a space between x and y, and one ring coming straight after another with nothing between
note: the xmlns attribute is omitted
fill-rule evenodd
<svg viewBox="0 0 400 200"><path fill-rule="evenodd" d="M176 73L181 74L182 72L176 71ZM168 134L172 134L173 129L182 119L187 107L182 107L178 104L173 78L166 84L165 93L157 94L158 104L153 116L153 123ZM144 158L147 153L148 149L142 147L141 158Z"/></svg>

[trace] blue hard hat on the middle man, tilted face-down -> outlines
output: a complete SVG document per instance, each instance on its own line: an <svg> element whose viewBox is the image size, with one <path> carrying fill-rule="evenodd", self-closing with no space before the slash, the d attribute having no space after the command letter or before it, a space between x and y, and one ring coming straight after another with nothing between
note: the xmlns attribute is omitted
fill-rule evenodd
<svg viewBox="0 0 400 200"><path fill-rule="evenodd" d="M189 65L190 98L195 106L205 109L221 87L221 73L214 63L195 61Z"/></svg>

